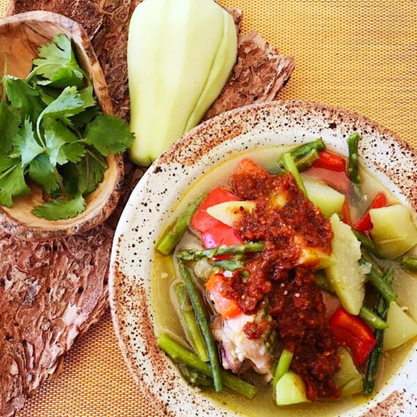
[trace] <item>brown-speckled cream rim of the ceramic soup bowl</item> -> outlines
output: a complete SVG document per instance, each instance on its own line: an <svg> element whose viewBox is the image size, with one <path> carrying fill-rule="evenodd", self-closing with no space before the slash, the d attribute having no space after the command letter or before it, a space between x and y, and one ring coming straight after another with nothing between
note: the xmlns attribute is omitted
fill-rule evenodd
<svg viewBox="0 0 417 417"><path fill-rule="evenodd" d="M113 242L111 312L129 370L161 415L240 416L190 388L156 347L149 279L153 247L181 194L235 152L270 144L295 145L321 136L330 149L347 154L345 138L352 131L361 134L363 165L402 203L416 210L417 154L407 142L367 117L306 101L255 104L204 122L158 158L133 190ZM390 416L395 411L414 415L417 382L408 371L416 366L417 352L413 349L388 385L341 417L376 417L387 410Z"/></svg>

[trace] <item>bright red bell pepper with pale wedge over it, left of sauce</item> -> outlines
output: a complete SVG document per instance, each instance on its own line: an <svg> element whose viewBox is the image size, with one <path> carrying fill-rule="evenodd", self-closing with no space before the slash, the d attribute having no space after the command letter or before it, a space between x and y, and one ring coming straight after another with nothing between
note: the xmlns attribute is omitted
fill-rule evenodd
<svg viewBox="0 0 417 417"><path fill-rule="evenodd" d="M239 245L243 240L236 234L234 229L220 222L207 213L207 208L224 202L236 202L239 198L225 188L211 190L199 206L190 226L202 234L202 240L206 249L218 247L218 245ZM228 255L224 255L229 258Z"/></svg>

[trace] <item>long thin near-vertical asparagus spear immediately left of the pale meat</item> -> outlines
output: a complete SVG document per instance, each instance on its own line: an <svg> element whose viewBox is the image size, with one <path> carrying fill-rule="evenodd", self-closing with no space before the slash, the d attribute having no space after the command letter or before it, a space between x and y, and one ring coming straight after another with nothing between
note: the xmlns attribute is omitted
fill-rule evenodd
<svg viewBox="0 0 417 417"><path fill-rule="evenodd" d="M195 311L195 317L197 318L199 329L202 332L204 343L206 344L208 360L210 361L211 373L213 375L214 389L216 392L220 392L223 389L223 383L222 376L220 375L218 350L215 345L213 333L211 332L210 322L208 322L208 317L204 309L202 297L200 296L195 281L191 277L186 265L181 261L179 261L179 273L186 284L187 292Z"/></svg>

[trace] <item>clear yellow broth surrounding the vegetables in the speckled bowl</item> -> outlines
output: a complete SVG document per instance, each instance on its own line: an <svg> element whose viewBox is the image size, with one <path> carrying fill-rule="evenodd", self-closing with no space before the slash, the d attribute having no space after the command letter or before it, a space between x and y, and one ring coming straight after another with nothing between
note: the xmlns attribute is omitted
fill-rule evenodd
<svg viewBox="0 0 417 417"><path fill-rule="evenodd" d="M172 219L177 218L177 216L184 211L186 206L199 197L199 195L206 193L216 186L227 186L229 176L242 158L250 158L261 164L267 170L272 170L279 155L284 153L287 149L288 147L254 149L252 152L239 154L214 167L210 172L196 181L183 195L183 198L175 208ZM384 186L370 174L364 172L363 169L361 170L361 176L363 177L361 189L363 190L363 194L366 195L366 198L359 200L353 193L347 195L347 199L351 206L353 221L363 215L370 202L372 202L373 197L375 197L379 191L384 191L390 202L395 201L395 197L393 197L389 190L386 190ZM193 239L195 238L187 232L179 243L179 247L189 244ZM152 277L152 303L156 318L156 334L167 332L174 337L179 336L181 341L186 341L186 335L183 332L179 314L177 313L177 301L172 291L172 283L177 281L177 279L177 272L172 256L163 256L155 251L154 272ZM401 268L396 268L393 286L395 291L398 292L399 304L408 306L410 315L414 320L417 320L417 277ZM379 363L375 393L379 391L384 384L388 384L389 379L398 373L400 366L402 366L402 363L404 363L408 354L411 352L413 344L414 342L409 342L395 350L383 354ZM356 407L367 401L366 397L358 394L341 398L340 400L322 400L295 404L287 407L277 407L272 401L270 385L263 382L263 378L260 375L256 375L252 372L245 373L245 379L256 384L258 391L253 400L248 400L229 389L226 389L222 393L202 391L202 395L208 395L213 398L215 402L222 404L222 406L247 417L257 417L260 415L265 417L302 417L306 415L306 411L309 412L309 416L311 417L330 417L341 414L343 411L352 409L352 407Z"/></svg>

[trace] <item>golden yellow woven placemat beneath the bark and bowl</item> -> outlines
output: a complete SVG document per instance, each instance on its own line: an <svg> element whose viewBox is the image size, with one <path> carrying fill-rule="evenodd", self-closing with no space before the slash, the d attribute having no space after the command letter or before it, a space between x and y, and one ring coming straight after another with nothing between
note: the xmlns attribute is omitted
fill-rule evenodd
<svg viewBox="0 0 417 417"><path fill-rule="evenodd" d="M0 0L0 15L4 3ZM350 108L417 146L415 0L225 3L244 11L243 31L256 29L281 53L296 57L295 72L281 98ZM157 414L134 384L106 313L67 354L58 379L46 382L19 416Z"/></svg>

